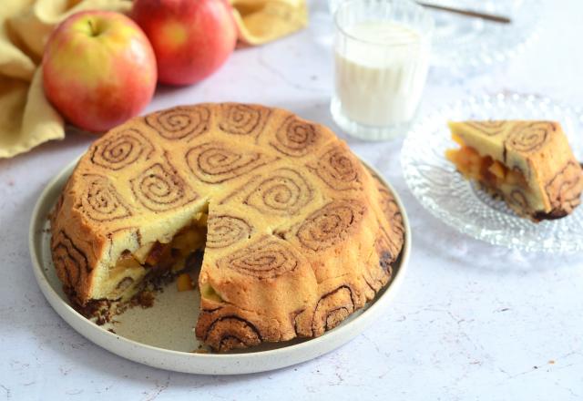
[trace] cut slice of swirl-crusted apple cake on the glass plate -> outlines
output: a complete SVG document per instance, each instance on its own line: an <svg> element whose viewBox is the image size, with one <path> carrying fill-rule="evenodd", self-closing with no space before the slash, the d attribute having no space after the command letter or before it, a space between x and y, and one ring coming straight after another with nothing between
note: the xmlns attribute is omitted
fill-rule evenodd
<svg viewBox="0 0 583 401"><path fill-rule="evenodd" d="M519 216L558 219L578 206L583 172L557 122L461 121L449 129L461 148L445 157Z"/></svg>

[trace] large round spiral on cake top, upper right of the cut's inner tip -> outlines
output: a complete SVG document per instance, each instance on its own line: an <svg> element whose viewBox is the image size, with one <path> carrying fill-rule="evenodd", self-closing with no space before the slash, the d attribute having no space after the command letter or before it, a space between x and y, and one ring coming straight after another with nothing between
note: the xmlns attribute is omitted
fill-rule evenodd
<svg viewBox="0 0 583 401"><path fill-rule="evenodd" d="M281 168L263 178L244 203L264 213L287 216L310 203L312 192L312 187L300 173Z"/></svg>

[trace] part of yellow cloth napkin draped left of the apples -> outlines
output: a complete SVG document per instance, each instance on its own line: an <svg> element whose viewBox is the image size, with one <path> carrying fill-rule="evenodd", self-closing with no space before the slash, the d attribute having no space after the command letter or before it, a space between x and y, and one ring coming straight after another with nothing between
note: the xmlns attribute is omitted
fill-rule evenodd
<svg viewBox="0 0 583 401"><path fill-rule="evenodd" d="M125 12L128 0L0 0L0 158L65 137L64 121L45 98L38 67L46 39L68 15L88 9Z"/></svg>

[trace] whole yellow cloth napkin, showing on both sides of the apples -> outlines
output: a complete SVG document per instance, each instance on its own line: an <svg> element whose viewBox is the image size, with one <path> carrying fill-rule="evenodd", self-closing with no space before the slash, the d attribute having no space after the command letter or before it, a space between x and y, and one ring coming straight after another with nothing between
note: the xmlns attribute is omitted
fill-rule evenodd
<svg viewBox="0 0 583 401"><path fill-rule="evenodd" d="M308 23L305 0L231 0L240 40L260 45ZM127 12L130 0L0 0L0 158L65 137L39 64L53 28L88 9Z"/></svg>

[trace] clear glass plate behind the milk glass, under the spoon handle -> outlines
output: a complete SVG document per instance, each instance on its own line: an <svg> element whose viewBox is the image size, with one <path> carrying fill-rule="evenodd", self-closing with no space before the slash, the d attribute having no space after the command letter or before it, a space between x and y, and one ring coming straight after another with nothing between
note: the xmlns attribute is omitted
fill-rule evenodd
<svg viewBox="0 0 583 401"><path fill-rule="evenodd" d="M427 3L511 18L510 24L431 11L435 19L432 65L448 72L480 70L522 52L538 36L541 0L427 0Z"/></svg>

